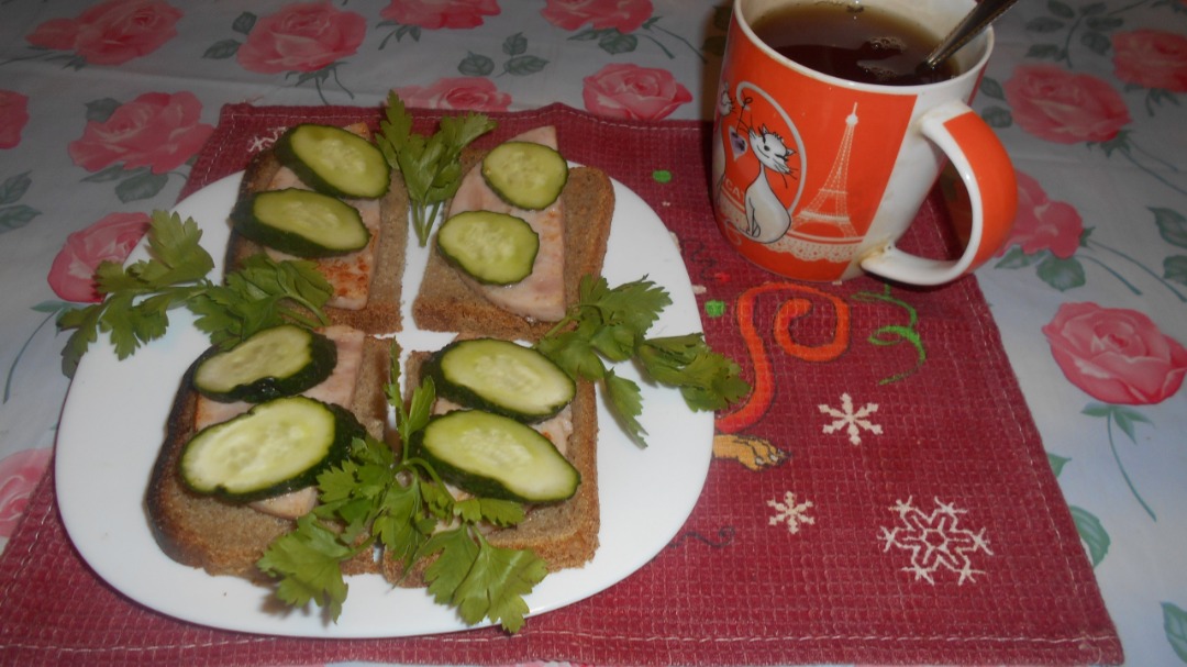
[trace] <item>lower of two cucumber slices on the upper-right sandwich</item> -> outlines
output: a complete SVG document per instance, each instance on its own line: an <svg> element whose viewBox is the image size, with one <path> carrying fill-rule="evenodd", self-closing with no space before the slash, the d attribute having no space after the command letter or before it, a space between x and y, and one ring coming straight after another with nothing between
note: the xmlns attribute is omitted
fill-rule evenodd
<svg viewBox="0 0 1187 667"><path fill-rule="evenodd" d="M437 249L478 282L513 285L532 274L540 236L523 218L466 211L442 223Z"/></svg>

